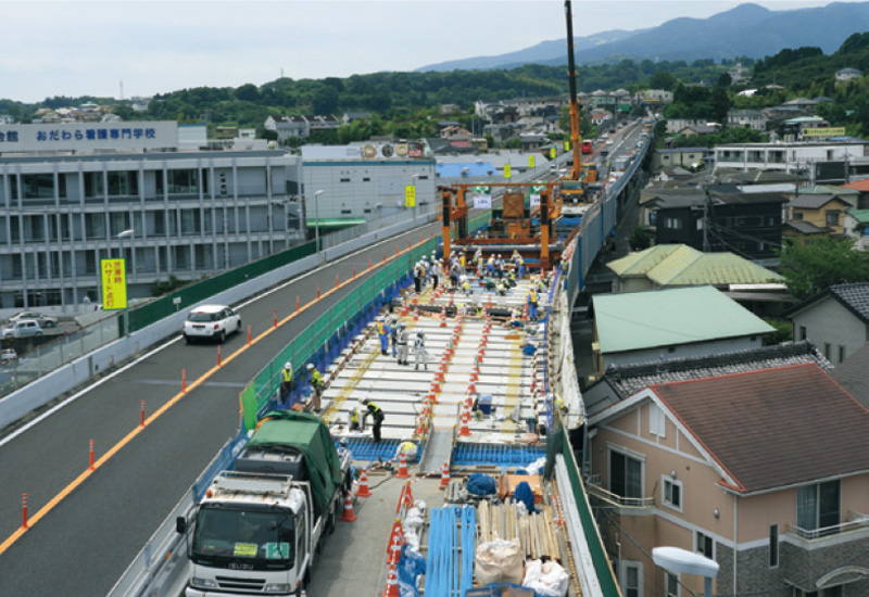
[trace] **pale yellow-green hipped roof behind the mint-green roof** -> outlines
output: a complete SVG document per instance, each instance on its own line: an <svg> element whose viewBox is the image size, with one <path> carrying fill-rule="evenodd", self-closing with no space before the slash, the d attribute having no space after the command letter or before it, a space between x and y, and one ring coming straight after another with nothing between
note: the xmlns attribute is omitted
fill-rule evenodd
<svg viewBox="0 0 869 597"><path fill-rule="evenodd" d="M606 264L615 275L614 292L731 284L783 285L783 278L733 253L702 253L684 244L658 244Z"/></svg>

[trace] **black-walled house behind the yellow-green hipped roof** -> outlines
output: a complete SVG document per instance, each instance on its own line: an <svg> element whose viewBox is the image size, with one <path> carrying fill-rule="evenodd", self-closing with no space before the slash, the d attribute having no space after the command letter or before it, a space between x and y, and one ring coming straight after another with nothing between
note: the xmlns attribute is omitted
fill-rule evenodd
<svg viewBox="0 0 869 597"><path fill-rule="evenodd" d="M688 244L698 251L732 251L750 259L771 259L781 245L782 193L695 191L662 193L644 206L655 212L655 244Z"/></svg>

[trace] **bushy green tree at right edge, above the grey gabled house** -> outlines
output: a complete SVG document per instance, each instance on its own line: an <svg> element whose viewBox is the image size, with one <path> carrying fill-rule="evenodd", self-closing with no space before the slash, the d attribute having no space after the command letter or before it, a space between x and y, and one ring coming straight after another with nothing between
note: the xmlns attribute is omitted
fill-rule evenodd
<svg viewBox="0 0 869 597"><path fill-rule="evenodd" d="M788 291L798 300L814 296L832 284L869 280L869 254L854 251L851 239L797 238L779 252Z"/></svg>

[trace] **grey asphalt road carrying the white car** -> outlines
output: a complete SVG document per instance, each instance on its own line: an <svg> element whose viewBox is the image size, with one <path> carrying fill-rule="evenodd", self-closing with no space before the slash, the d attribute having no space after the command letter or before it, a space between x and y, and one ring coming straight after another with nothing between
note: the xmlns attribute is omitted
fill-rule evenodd
<svg viewBox="0 0 869 597"><path fill-rule="evenodd" d="M437 225L430 225L434 233ZM419 230L400 234L352 256L303 275L286 288L241 307L252 335L289 315L300 296L305 305L362 272L369 257L419 240ZM428 228L423 237L428 238ZM406 256L400 257L407 259ZM407 264L410 268L411 264ZM375 269L376 270L376 269ZM105 465L61 499L0 555L0 597L105 595L191 483L238 429L238 394L250 379L291 339L366 279L325 296L301 316L228 363L187 394L162 417L124 445ZM245 334L227 339L223 357L242 348ZM139 424L141 401L154 412L180 390L181 369L188 383L216 364L213 344L185 345L180 335L103 383L88 390L53 415L0 444L0 543L22 524L26 493L33 517L88 469L88 445L99 459Z"/></svg>

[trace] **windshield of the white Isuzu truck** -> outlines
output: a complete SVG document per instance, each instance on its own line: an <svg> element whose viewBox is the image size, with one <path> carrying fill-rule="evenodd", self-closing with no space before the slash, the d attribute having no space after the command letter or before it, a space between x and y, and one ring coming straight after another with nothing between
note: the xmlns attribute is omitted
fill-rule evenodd
<svg viewBox="0 0 869 597"><path fill-rule="evenodd" d="M197 516L194 559L247 562L251 568L292 568L292 513L274 508L202 507Z"/></svg>

